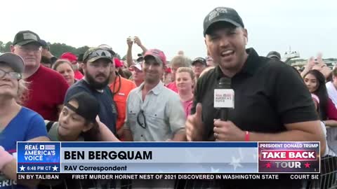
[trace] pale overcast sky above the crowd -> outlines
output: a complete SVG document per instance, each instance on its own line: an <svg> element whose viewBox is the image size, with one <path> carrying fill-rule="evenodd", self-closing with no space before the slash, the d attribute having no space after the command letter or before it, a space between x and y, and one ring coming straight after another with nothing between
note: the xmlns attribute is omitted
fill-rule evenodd
<svg viewBox="0 0 337 189"><path fill-rule="evenodd" d="M1 1L0 41L13 41L20 30L32 30L51 43L80 47L102 43L124 56L126 38L139 36L147 48L164 50L168 59L204 57L203 20L217 6L232 7L248 30L248 47L260 55L296 50L308 58L323 52L337 57L337 3L321 1L226 0L5 0ZM133 55L141 52L136 47Z"/></svg>

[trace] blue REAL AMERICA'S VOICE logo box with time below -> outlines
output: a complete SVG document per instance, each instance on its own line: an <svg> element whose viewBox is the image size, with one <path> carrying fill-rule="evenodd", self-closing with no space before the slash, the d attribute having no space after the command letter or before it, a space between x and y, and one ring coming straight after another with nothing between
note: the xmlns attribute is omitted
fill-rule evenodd
<svg viewBox="0 0 337 189"><path fill-rule="evenodd" d="M60 173L59 142L18 142L18 173Z"/></svg>

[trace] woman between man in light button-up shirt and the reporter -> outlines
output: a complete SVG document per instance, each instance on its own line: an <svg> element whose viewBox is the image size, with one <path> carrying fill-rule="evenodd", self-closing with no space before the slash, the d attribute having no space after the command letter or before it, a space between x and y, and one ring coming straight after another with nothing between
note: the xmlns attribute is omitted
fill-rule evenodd
<svg viewBox="0 0 337 189"><path fill-rule="evenodd" d="M176 85L180 101L183 104L185 116L190 115L193 104L193 87L195 77L192 69L189 67L180 67L176 72Z"/></svg>

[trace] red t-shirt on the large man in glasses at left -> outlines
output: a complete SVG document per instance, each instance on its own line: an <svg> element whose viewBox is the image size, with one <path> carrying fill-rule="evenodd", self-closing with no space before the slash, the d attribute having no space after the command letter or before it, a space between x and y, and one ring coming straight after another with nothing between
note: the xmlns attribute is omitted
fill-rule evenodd
<svg viewBox="0 0 337 189"><path fill-rule="evenodd" d="M28 96L24 106L39 113L45 120L58 120L58 106L63 104L69 85L60 73L39 66L37 72L26 79Z"/></svg>

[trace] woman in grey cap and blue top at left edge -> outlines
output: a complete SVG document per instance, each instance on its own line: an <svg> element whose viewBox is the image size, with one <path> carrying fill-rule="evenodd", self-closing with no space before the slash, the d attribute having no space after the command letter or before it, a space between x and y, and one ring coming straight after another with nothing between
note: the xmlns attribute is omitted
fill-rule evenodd
<svg viewBox="0 0 337 189"><path fill-rule="evenodd" d="M0 183L16 188L16 142L49 141L44 119L18 104L26 89L22 79L23 59L13 53L0 54ZM21 181L34 186L37 181ZM25 188L19 186L18 188ZM0 186L1 188L1 186Z"/></svg>

